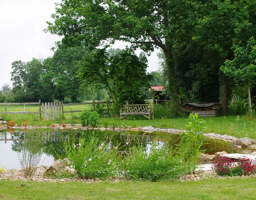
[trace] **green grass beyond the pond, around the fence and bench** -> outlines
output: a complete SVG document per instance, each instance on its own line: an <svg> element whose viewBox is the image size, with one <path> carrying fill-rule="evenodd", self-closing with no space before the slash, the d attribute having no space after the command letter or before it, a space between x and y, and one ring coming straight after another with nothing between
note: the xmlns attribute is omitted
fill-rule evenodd
<svg viewBox="0 0 256 200"><path fill-rule="evenodd" d="M68 110L83 110L90 109L89 105L76 105L76 106L65 106L64 111ZM7 106L7 111L23 111L24 107L21 106ZM26 105L26 111L38 111L38 106ZM4 106L0 106L0 111L4 111ZM80 123L79 120L80 113L74 113L73 122ZM2 115L6 121L14 120L19 125L24 121L28 121L30 125L40 125L39 114L9 114ZM65 119L63 122L71 123L71 113L64 115ZM214 132L220 134L228 134L236 137L250 137L256 139L256 119L248 120L246 116L227 116L227 117L205 117L205 126L207 127L207 132ZM55 121L45 121L45 125L50 125L51 123L59 123L59 120ZM120 120L118 118L101 118L99 121L100 126L111 126L111 125L129 125L132 127L137 126L153 126L161 128L176 128L184 129L186 125L186 118L179 119L154 119L147 120L141 117L141 119L129 119Z"/></svg>

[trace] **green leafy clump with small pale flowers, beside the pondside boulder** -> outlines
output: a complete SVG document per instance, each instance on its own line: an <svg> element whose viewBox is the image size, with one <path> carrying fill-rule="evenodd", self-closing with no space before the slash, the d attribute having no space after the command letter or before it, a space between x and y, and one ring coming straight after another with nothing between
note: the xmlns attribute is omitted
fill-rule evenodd
<svg viewBox="0 0 256 200"><path fill-rule="evenodd" d="M91 136L88 143L83 135L79 139L79 144L70 139L64 142L66 156L78 176L107 178L117 174L119 159L115 149L111 148L106 140L99 143L94 136Z"/></svg>

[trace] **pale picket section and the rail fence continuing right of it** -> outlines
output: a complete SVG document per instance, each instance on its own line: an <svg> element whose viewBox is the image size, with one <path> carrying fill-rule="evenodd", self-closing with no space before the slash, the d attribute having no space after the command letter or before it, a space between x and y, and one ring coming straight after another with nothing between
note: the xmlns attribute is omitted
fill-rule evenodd
<svg viewBox="0 0 256 200"><path fill-rule="evenodd" d="M44 120L55 120L59 119L61 116L63 116L65 113L79 113L83 110L68 110L64 111L65 106L76 106L76 105L92 105L93 109L95 109L95 106L97 104L107 104L107 110L109 111L109 103L111 101L92 101L92 102L86 102L86 103L63 103L61 102L48 102L48 103L42 103L42 116Z"/></svg>

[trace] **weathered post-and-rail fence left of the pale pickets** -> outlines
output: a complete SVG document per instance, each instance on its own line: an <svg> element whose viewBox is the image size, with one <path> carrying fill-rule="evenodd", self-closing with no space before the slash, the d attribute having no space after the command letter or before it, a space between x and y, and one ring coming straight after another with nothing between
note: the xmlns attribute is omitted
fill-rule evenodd
<svg viewBox="0 0 256 200"><path fill-rule="evenodd" d="M24 105L24 111L7 111L8 105ZM39 110L38 111L25 111L25 105L38 105ZM39 119L41 119L41 100L39 102L33 102L33 103L0 103L0 106L5 106L5 111L0 112L0 114L39 114Z"/></svg>

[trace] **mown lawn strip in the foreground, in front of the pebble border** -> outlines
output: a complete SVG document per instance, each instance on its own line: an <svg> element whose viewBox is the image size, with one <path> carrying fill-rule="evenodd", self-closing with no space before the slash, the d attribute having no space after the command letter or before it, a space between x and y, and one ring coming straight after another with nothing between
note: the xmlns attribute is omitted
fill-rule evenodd
<svg viewBox="0 0 256 200"><path fill-rule="evenodd" d="M254 199L255 179L119 183L104 181L90 184L0 181L1 197L3 199Z"/></svg>

